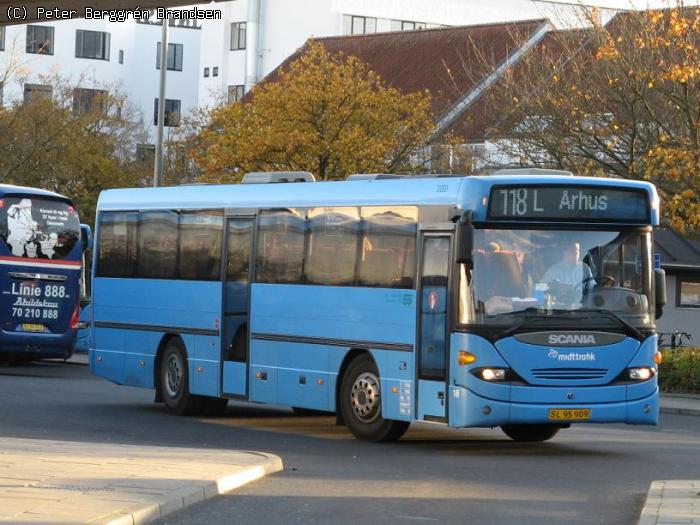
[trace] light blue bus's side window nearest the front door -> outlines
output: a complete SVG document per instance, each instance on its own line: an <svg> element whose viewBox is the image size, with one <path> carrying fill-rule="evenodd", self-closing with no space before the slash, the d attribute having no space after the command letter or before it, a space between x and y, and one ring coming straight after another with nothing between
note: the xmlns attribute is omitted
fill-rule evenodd
<svg viewBox="0 0 700 525"><path fill-rule="evenodd" d="M360 286L413 288L418 208L362 208Z"/></svg>

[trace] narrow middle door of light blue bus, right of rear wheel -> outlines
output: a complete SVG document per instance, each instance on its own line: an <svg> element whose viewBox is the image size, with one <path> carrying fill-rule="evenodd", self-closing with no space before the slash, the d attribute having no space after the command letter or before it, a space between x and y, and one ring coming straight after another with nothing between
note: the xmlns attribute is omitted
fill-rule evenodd
<svg viewBox="0 0 700 525"><path fill-rule="evenodd" d="M245 397L247 393L248 312L253 225L252 218L229 218L226 221L221 358L224 364L222 392L228 396Z"/></svg>

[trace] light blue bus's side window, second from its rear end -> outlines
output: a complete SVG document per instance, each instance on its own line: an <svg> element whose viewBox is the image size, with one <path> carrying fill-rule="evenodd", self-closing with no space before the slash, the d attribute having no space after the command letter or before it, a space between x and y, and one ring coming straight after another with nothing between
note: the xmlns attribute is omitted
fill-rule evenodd
<svg viewBox="0 0 700 525"><path fill-rule="evenodd" d="M141 212L137 277L156 279L175 277L177 230L177 213L172 211Z"/></svg>

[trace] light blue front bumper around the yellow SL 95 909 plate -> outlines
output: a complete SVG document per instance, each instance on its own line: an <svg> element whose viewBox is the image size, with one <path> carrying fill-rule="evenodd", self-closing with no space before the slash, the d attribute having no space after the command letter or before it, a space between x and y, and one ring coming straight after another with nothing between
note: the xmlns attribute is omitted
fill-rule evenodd
<svg viewBox="0 0 700 525"><path fill-rule="evenodd" d="M627 423L656 425L659 422L659 393L642 399L614 403L508 403L481 397L460 386L449 392L451 427L498 427L507 424ZM572 410L586 419L550 419L551 410Z"/></svg>

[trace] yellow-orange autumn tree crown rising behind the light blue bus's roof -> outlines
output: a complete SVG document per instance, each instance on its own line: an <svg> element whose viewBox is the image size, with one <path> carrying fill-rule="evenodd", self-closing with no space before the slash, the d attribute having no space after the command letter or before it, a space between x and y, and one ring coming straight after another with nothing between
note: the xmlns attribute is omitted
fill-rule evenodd
<svg viewBox="0 0 700 525"><path fill-rule="evenodd" d="M311 42L244 103L200 115L189 138L202 180L232 182L249 171L411 172L433 129L427 93L388 87L353 56Z"/></svg>

